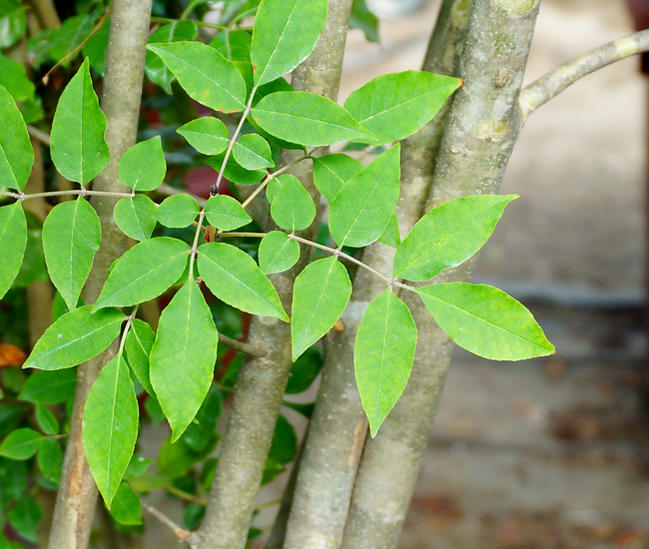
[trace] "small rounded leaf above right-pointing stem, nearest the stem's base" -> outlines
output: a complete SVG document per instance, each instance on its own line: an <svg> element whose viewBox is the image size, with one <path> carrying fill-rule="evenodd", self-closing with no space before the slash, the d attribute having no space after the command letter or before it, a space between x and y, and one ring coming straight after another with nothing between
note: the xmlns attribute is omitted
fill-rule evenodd
<svg viewBox="0 0 649 549"><path fill-rule="evenodd" d="M300 180L291 174L280 175L281 188L273 198L270 215L287 231L301 231L315 219L315 204Z"/></svg>

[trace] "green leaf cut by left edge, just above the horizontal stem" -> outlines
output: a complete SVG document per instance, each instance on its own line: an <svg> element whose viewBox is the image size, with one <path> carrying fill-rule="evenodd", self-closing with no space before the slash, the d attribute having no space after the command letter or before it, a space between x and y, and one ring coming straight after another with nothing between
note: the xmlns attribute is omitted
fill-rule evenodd
<svg viewBox="0 0 649 549"><path fill-rule="evenodd" d="M11 94L0 86L0 181L10 189L22 191L34 164L27 126Z"/></svg>

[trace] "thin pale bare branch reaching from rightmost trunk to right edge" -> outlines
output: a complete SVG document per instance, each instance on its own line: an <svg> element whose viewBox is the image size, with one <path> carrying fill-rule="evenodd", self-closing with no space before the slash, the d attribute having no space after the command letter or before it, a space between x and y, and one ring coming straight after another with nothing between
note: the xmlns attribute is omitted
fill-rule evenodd
<svg viewBox="0 0 649 549"><path fill-rule="evenodd" d="M519 100L523 119L527 119L541 105L584 76L621 59L647 51L649 51L649 29L613 40L560 65L523 88Z"/></svg>

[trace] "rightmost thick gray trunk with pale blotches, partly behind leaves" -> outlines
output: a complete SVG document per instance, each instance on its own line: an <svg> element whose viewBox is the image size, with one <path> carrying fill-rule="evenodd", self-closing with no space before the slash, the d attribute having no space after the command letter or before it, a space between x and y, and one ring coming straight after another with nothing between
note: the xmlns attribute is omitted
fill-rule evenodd
<svg viewBox="0 0 649 549"><path fill-rule="evenodd" d="M531 0L474 1L460 65L466 84L451 107L428 207L497 192L521 128L518 97L537 13ZM471 262L436 282L466 280L470 271ZM450 340L417 298L404 298L419 331L415 364L403 396L366 445L346 548L397 546L448 370Z"/></svg>

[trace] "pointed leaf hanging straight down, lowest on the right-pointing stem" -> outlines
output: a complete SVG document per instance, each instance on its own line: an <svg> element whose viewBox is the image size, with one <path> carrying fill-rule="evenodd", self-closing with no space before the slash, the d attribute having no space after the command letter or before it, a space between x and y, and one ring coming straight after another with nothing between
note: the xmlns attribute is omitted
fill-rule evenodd
<svg viewBox="0 0 649 549"><path fill-rule="evenodd" d="M406 388L416 343L408 306L388 288L365 311L354 343L354 374L372 437Z"/></svg>

